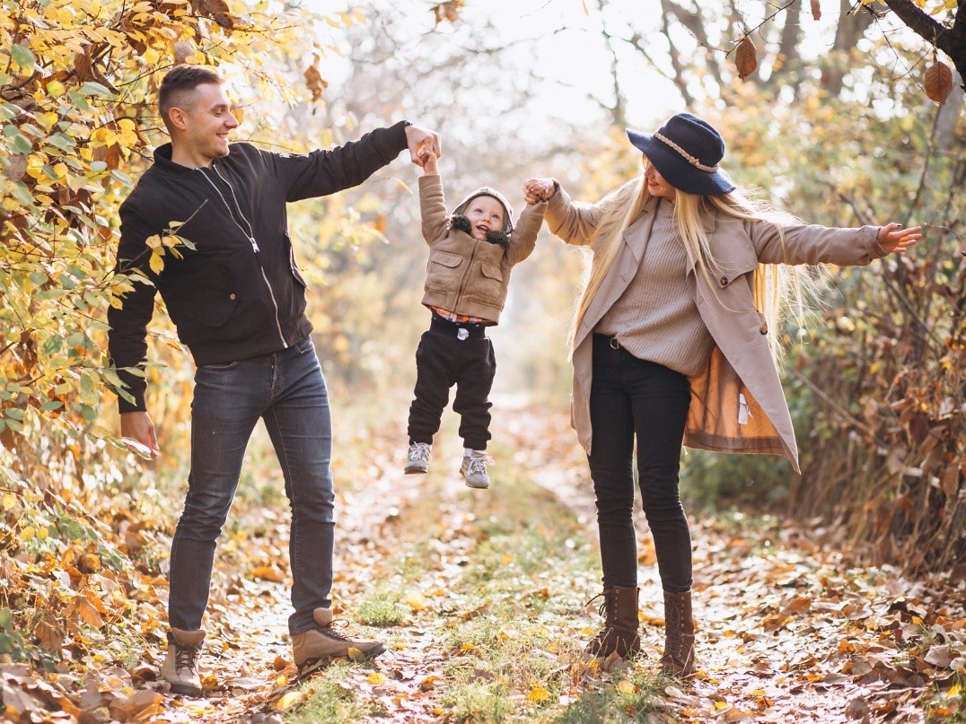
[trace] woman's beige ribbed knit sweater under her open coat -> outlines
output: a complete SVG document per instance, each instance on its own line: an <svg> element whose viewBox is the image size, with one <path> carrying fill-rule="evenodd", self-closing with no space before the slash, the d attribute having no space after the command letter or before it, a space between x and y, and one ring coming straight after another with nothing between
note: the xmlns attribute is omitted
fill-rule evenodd
<svg viewBox="0 0 966 724"><path fill-rule="evenodd" d="M639 359L683 375L704 371L714 342L695 303L695 278L674 223L674 207L662 201L638 272L594 332L617 338Z"/></svg>

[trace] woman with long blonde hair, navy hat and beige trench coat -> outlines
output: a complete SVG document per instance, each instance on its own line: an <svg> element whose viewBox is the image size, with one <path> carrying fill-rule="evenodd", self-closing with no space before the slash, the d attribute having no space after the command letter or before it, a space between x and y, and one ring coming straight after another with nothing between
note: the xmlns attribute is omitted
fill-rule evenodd
<svg viewBox="0 0 966 724"><path fill-rule="evenodd" d="M571 422L597 496L604 627L589 654L640 649L633 455L664 588L661 668L695 671L691 534L678 497L681 445L771 453L799 471L775 364L786 267L867 265L903 252L920 227L830 229L754 206L718 164L718 131L688 113L654 133L628 130L641 176L593 206L553 179L530 179L564 241L589 246L590 276L573 331Z"/></svg>

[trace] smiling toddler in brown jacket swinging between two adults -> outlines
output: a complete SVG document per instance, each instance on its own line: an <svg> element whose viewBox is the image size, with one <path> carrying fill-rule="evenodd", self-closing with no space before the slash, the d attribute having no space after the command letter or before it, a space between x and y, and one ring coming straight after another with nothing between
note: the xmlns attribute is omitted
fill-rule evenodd
<svg viewBox="0 0 966 724"><path fill-rule="evenodd" d="M486 446L497 363L486 328L499 320L513 265L533 251L547 204L527 205L514 227L506 199L483 186L447 216L437 156L423 151L420 160L422 234L430 249L422 303L432 320L416 349L406 472L428 472L433 435L455 384L453 410L465 448L460 473L469 487L490 487Z"/></svg>

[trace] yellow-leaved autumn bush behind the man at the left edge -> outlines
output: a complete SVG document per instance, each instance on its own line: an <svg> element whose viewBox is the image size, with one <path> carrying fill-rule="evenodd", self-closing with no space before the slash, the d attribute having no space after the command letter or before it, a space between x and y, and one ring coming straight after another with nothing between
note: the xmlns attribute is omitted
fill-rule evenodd
<svg viewBox="0 0 966 724"><path fill-rule="evenodd" d="M225 0L0 3L0 655L49 666L84 653L83 627L130 616L154 630L156 601L135 606L126 592L168 521L154 518L151 471L116 439L113 394L126 393L105 358L104 320L130 287L111 274L117 208L166 140L160 77L176 63L218 67L247 89L240 117L263 104L240 135L303 151L285 109L322 87L320 28L358 19ZM179 246L158 237L153 265ZM186 434L190 361L157 320L146 374L164 385L149 404L174 443ZM166 446L171 462L183 447Z"/></svg>

